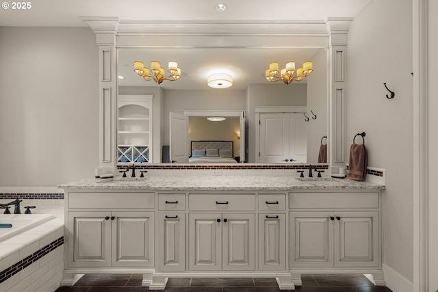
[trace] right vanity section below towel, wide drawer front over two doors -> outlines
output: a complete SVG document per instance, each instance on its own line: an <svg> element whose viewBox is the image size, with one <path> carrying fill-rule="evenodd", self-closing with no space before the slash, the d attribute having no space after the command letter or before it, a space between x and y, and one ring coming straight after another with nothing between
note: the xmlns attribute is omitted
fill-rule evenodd
<svg viewBox="0 0 438 292"><path fill-rule="evenodd" d="M378 191L289 194L289 267L381 267Z"/></svg>

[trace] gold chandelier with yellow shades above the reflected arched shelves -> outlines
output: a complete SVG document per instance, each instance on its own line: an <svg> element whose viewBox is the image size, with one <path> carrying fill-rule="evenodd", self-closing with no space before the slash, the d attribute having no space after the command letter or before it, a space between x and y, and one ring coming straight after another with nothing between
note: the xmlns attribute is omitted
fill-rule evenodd
<svg viewBox="0 0 438 292"><path fill-rule="evenodd" d="M138 76L142 77L144 80L153 80L158 84L162 83L164 80L177 81L181 78L181 69L178 68L178 63L175 61L169 61L168 76L165 75L165 70L158 61L151 62L151 70L149 70L147 67L144 67L143 62L135 61L134 72L136 72Z"/></svg>

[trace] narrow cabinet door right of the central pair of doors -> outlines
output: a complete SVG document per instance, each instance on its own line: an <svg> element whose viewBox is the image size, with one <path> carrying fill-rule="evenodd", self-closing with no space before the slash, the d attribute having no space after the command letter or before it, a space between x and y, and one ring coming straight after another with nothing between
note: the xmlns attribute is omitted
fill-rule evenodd
<svg viewBox="0 0 438 292"><path fill-rule="evenodd" d="M259 214L259 270L285 270L285 220L285 214Z"/></svg>

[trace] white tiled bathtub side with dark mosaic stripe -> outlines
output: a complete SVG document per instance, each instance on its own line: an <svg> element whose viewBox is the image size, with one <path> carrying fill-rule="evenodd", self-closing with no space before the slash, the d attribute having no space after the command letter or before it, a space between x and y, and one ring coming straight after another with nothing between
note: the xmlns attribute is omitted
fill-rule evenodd
<svg viewBox="0 0 438 292"><path fill-rule="evenodd" d="M36 228L0 242L0 291L55 291L64 269L64 220L44 222Z"/></svg>

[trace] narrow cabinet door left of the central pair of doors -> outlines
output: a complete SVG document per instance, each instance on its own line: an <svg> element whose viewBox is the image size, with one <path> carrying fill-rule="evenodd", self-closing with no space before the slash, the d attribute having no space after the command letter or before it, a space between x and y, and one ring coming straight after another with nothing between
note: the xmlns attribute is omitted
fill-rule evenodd
<svg viewBox="0 0 438 292"><path fill-rule="evenodd" d="M157 268L185 271L185 214L158 214Z"/></svg>

